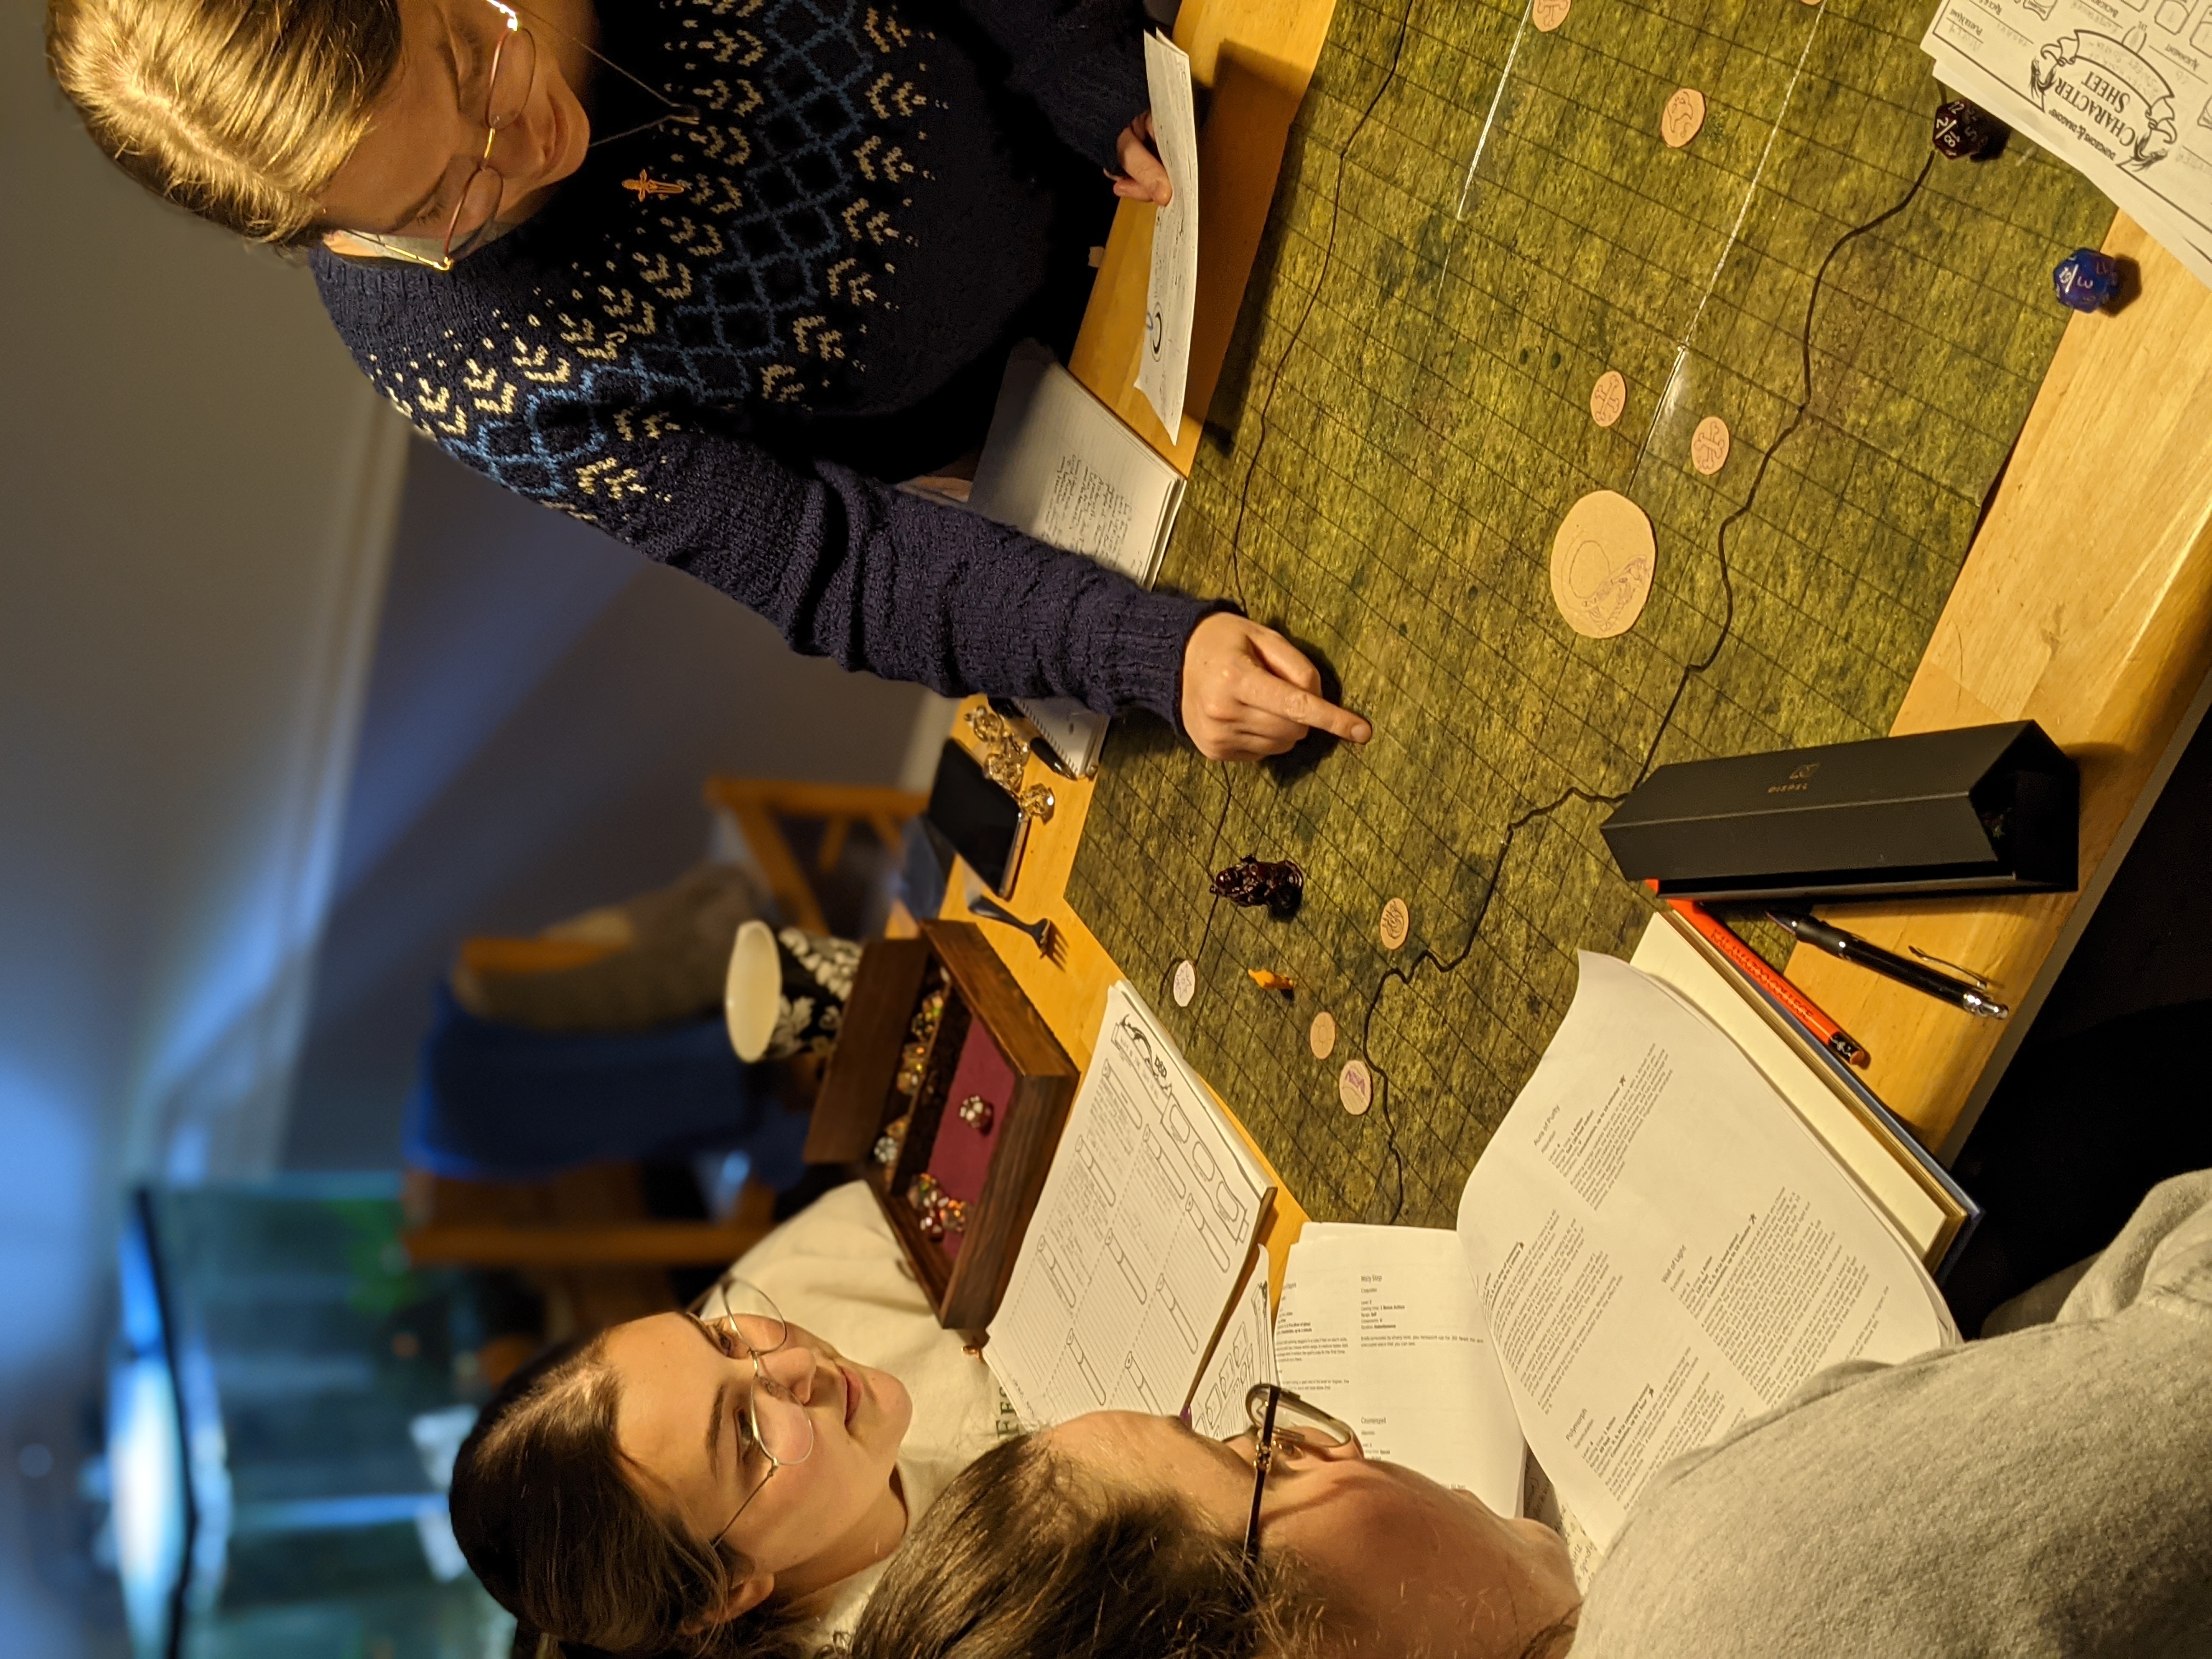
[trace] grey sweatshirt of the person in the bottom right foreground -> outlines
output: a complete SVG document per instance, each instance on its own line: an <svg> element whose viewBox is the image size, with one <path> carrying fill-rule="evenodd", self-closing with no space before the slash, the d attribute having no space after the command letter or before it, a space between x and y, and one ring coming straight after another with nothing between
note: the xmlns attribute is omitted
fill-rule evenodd
<svg viewBox="0 0 2212 1659"><path fill-rule="evenodd" d="M2212 1170L2057 1321L1812 1378L1659 1471L1575 1659L2212 1655Z"/></svg>

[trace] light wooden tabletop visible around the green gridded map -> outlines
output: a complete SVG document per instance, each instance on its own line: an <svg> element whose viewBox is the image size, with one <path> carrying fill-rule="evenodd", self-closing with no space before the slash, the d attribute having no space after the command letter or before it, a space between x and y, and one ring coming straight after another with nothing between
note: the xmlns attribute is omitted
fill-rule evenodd
<svg viewBox="0 0 2212 1659"><path fill-rule="evenodd" d="M1181 429L1135 392L1152 208L1121 204L1073 372L1186 473L1212 398L1283 137L1332 0L1186 0L1177 44L1212 86L1199 144L1199 310ZM1975 538L1893 730L2033 717L2081 763L2081 889L2039 898L1851 907L1893 949L1920 945L2002 987L2004 1024L1973 1020L1801 949L1790 973L1876 1053L1871 1084L1944 1157L1958 1152L2205 708L2212 668L2212 292L2117 219L2106 248L2141 265L2117 314L2077 316ZM1194 411L1194 414L1192 414ZM1051 916L1066 958L984 927L1068 1053L1086 1064L1119 978L1066 905L1088 783L1031 761L1060 801L1013 894ZM964 916L958 896L947 916Z"/></svg>

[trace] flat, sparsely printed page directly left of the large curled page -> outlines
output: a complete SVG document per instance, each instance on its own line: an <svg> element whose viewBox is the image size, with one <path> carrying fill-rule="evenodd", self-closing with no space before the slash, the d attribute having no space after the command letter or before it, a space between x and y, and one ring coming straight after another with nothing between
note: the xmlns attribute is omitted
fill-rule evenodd
<svg viewBox="0 0 2212 1659"><path fill-rule="evenodd" d="M1283 1387L1358 1429L1369 1458L1520 1515L1526 1447L1455 1232L1310 1221L1274 1354Z"/></svg>

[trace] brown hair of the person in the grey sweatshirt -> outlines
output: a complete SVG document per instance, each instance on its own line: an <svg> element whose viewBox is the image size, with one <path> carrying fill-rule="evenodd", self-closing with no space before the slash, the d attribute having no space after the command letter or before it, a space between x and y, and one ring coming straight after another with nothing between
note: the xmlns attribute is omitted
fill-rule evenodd
<svg viewBox="0 0 2212 1659"><path fill-rule="evenodd" d="M876 1586L852 1659L1310 1659L1318 1608L1175 1493L1102 1489L1022 1436L969 1464Z"/></svg>

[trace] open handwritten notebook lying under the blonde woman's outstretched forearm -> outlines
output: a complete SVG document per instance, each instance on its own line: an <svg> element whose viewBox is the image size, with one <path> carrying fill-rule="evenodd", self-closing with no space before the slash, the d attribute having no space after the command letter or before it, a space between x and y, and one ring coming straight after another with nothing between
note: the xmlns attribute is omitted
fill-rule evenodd
<svg viewBox="0 0 2212 1659"><path fill-rule="evenodd" d="M1183 476L1051 352L1022 343L1006 363L967 504L1150 586L1183 504ZM1104 714L1071 697L1031 697L1022 712L1079 776L1097 765Z"/></svg>

